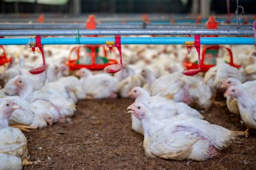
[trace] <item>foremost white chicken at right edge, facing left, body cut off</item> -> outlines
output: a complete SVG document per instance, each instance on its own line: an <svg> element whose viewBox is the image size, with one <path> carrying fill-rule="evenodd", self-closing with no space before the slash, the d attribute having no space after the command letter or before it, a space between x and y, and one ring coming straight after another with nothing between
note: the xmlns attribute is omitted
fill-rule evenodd
<svg viewBox="0 0 256 170"><path fill-rule="evenodd" d="M251 129L256 129L256 101L255 97L243 86L231 86L226 90L225 95L236 98L239 112L243 122L248 126L245 136L248 137Z"/></svg>

